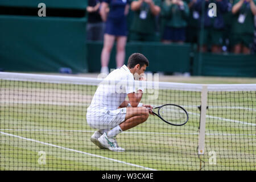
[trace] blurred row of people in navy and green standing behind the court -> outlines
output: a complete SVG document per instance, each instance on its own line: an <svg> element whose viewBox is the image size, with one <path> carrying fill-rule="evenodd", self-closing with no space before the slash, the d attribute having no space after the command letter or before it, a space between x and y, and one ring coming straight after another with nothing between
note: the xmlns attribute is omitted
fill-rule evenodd
<svg viewBox="0 0 256 182"><path fill-rule="evenodd" d="M256 0L88 0L86 10L88 40L104 41L105 73L115 41L117 67L127 41L192 43L213 53L256 49Z"/></svg>

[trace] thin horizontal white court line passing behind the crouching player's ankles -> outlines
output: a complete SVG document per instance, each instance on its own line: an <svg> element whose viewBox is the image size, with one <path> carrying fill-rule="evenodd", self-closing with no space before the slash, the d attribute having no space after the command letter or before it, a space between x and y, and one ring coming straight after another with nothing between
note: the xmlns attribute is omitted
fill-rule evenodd
<svg viewBox="0 0 256 182"><path fill-rule="evenodd" d="M0 129L0 131L42 131L42 132L80 132L94 133L92 130L40 130L40 129ZM162 134L162 135L199 135L199 133L164 133L148 131L123 131L123 134ZM206 133L205 135L230 135L230 136L256 136L256 134L232 134L232 133Z"/></svg>

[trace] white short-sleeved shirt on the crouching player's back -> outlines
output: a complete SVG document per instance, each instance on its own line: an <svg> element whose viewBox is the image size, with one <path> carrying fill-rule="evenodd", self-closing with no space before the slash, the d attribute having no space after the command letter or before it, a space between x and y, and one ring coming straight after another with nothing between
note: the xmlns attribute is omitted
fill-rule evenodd
<svg viewBox="0 0 256 182"><path fill-rule="evenodd" d="M127 82L127 84L123 84ZM92 102L87 109L91 116L103 115L108 110L115 110L125 101L127 94L135 92L133 74L126 65L115 69L98 86Z"/></svg>

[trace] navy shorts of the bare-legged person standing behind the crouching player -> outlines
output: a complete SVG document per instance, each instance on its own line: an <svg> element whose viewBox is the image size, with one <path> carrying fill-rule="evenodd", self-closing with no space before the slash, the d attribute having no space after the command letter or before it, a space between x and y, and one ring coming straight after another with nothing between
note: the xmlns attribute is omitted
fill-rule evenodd
<svg viewBox="0 0 256 182"><path fill-rule="evenodd" d="M108 18L105 24L105 34L114 36L127 36L126 18Z"/></svg>

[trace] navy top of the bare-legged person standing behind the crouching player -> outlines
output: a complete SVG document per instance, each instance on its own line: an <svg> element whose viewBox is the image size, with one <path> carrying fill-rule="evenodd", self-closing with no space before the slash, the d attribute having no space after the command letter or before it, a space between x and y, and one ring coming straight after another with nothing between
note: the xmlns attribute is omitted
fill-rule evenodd
<svg viewBox="0 0 256 182"><path fill-rule="evenodd" d="M125 6L129 0L103 0L109 4L110 11L108 18L123 18L125 16Z"/></svg>

